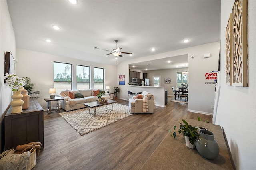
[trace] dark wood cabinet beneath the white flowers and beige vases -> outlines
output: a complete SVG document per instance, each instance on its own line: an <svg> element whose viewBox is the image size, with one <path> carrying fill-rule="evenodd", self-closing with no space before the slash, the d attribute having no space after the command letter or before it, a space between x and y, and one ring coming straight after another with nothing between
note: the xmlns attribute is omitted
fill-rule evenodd
<svg viewBox="0 0 256 170"><path fill-rule="evenodd" d="M5 150L19 144L41 142L44 148L44 111L36 99L30 98L28 109L12 114L10 106L4 117Z"/></svg>

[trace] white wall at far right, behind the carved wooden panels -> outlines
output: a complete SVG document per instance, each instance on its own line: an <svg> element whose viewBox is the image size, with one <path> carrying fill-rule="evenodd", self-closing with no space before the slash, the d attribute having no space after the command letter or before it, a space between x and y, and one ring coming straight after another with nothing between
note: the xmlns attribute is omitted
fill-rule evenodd
<svg viewBox="0 0 256 170"><path fill-rule="evenodd" d="M225 85L225 30L234 0L221 1L220 98L216 124L221 125L237 170L256 167L256 1L248 1L249 87Z"/></svg>

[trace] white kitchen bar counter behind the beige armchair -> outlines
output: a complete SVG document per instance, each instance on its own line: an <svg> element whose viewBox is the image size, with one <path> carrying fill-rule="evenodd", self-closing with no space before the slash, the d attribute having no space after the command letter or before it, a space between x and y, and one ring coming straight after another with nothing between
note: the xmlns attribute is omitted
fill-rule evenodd
<svg viewBox="0 0 256 170"><path fill-rule="evenodd" d="M166 87L162 86L137 86L137 85L128 85L128 91L132 91L134 93L147 91L152 93L155 98L155 105L160 107L165 107L166 105Z"/></svg>

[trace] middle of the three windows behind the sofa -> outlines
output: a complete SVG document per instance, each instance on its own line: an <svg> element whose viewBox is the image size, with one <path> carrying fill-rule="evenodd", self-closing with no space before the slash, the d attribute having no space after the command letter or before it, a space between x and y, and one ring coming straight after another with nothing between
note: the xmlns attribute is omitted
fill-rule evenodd
<svg viewBox="0 0 256 170"><path fill-rule="evenodd" d="M76 65L76 89L90 89L90 67Z"/></svg>

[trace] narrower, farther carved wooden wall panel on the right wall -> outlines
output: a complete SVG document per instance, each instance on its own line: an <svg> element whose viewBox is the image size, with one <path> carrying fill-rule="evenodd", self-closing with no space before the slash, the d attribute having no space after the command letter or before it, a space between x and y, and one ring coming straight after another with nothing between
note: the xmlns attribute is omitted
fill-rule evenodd
<svg viewBox="0 0 256 170"><path fill-rule="evenodd" d="M232 14L226 27L226 85L232 85Z"/></svg>

